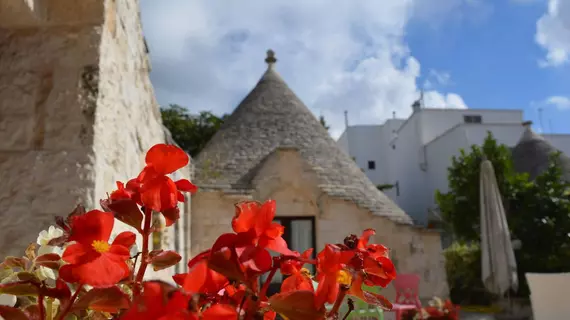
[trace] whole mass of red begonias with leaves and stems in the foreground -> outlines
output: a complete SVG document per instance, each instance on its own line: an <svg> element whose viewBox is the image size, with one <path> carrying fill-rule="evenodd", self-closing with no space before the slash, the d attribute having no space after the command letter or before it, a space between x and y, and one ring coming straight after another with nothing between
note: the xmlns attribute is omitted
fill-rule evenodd
<svg viewBox="0 0 570 320"><path fill-rule="evenodd" d="M351 235L342 244L327 244L316 257L313 249L292 251L282 237L284 227L274 222L276 207L271 200L236 204L233 232L220 235L209 250L192 258L188 273L173 277L177 287L143 281L149 265L160 270L181 259L174 251L149 250L150 235L156 231L151 225L153 215L161 213L168 226L176 223L178 201L184 200L181 192L197 190L188 180L173 181L167 176L188 164L188 156L178 147L156 145L145 160L136 178L126 184L117 182L117 190L101 201L104 211L85 212L78 207L67 219L56 220L64 235L49 244L65 246L61 257L55 253L36 256L35 247L30 247L25 257L10 257L0 265L19 272L18 281L0 284L0 293L21 299L36 296L22 304L25 308L0 306L0 316L270 320L281 314L290 320L324 320L338 318L347 295L391 308L383 296L362 289L363 284L385 287L396 277L388 249L369 243L374 230L364 231L360 238ZM132 232L109 242L115 219L140 233L142 252L131 257L136 240ZM270 252L279 256L272 257ZM315 266L315 277L305 264ZM40 280L38 268L58 271L55 283ZM280 292L269 297L269 284L277 272L285 280ZM313 281L318 282L316 290ZM87 290L87 285L92 289ZM54 300L59 300L55 310ZM328 311L327 304L333 305Z"/></svg>

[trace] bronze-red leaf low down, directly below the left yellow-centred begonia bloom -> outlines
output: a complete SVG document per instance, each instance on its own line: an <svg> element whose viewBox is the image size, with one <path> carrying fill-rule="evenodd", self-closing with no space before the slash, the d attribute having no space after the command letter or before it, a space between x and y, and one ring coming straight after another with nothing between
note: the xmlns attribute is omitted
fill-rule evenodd
<svg viewBox="0 0 570 320"><path fill-rule="evenodd" d="M73 311L96 310L116 313L129 307L129 297L118 287L94 288L85 293L72 307Z"/></svg>

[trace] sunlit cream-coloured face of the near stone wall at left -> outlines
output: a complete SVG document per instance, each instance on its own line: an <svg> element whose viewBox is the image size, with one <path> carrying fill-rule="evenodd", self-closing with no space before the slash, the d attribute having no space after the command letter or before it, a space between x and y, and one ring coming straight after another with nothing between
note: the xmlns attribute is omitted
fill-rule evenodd
<svg viewBox="0 0 570 320"><path fill-rule="evenodd" d="M165 142L160 109L148 76L150 62L138 1L107 0L104 16L93 126L95 199L105 198L107 192L114 190L115 181L136 177L144 167L146 151ZM177 174L178 178L189 178L189 167ZM178 227L184 225L184 219L182 215ZM128 229L124 224L122 227ZM164 248L174 248L178 241L178 248L184 254L187 246L182 236L184 230L178 229L178 235L174 235L174 230L165 230Z"/></svg>

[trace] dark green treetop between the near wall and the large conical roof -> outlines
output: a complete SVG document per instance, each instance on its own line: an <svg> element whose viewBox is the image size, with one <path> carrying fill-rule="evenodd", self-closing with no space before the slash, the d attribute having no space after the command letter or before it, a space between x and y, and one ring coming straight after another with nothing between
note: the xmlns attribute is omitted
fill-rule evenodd
<svg viewBox="0 0 570 320"><path fill-rule="evenodd" d="M220 129L228 115L218 117L209 111L190 114L188 110L171 104L160 109L164 126L182 149L195 157Z"/></svg>

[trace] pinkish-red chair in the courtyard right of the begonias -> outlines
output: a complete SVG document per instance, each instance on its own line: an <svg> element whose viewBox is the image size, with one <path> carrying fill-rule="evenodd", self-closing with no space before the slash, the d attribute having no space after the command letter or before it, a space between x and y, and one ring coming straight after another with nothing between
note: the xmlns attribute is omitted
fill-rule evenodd
<svg viewBox="0 0 570 320"><path fill-rule="evenodd" d="M417 274L399 274L393 282L396 289L396 299L392 312L396 314L396 320L402 319L405 310L422 309L420 302L420 276ZM423 319L420 313L420 319Z"/></svg>

